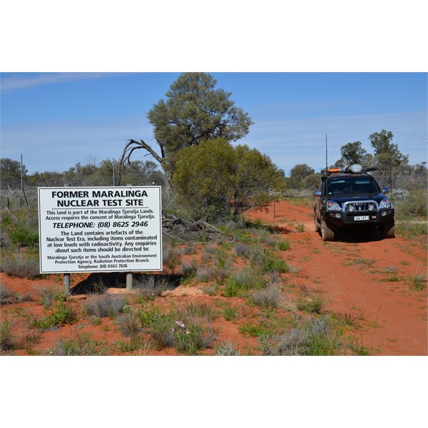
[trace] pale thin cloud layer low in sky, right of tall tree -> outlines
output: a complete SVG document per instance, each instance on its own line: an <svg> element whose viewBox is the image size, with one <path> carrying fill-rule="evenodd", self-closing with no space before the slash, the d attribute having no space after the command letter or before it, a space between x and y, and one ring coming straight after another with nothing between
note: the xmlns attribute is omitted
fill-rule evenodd
<svg viewBox="0 0 428 428"><path fill-rule="evenodd" d="M269 155L286 173L297 163L307 163L315 170L324 168L326 134L328 161L334 163L346 143L361 141L372 152L369 136L382 129L392 131L393 143L409 155L411 163L427 161L425 112L254 121L243 142Z"/></svg>

